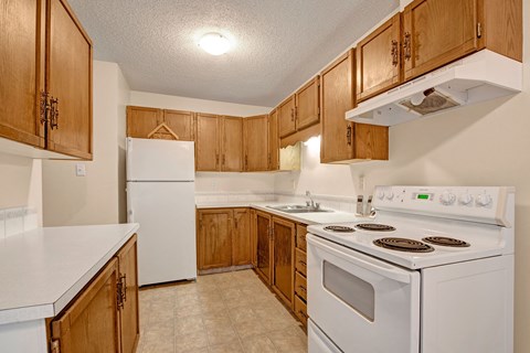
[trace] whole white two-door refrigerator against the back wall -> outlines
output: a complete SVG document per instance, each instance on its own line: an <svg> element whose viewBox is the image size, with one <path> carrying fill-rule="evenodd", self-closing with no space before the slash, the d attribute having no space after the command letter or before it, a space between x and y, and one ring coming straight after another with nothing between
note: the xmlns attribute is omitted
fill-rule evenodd
<svg viewBox="0 0 530 353"><path fill-rule="evenodd" d="M194 179L194 142L127 138L140 286L197 278Z"/></svg>

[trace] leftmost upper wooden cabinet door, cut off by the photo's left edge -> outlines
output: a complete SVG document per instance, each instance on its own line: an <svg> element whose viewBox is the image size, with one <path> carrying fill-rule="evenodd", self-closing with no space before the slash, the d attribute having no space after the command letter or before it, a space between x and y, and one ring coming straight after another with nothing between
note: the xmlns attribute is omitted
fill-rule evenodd
<svg viewBox="0 0 530 353"><path fill-rule="evenodd" d="M0 137L41 148L44 12L34 0L2 1L0 11Z"/></svg>

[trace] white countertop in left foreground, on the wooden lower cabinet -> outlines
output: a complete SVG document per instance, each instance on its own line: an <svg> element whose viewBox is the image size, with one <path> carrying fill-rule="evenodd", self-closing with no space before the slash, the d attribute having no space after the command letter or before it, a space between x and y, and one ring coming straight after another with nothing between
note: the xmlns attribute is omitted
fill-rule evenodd
<svg viewBox="0 0 530 353"><path fill-rule="evenodd" d="M0 324L59 314L138 227L46 227L0 240Z"/></svg>

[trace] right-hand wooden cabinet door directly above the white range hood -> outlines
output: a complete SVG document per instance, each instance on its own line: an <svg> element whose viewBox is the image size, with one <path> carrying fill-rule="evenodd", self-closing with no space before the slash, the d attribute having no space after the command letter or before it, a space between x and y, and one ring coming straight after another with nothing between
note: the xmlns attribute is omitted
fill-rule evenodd
<svg viewBox="0 0 530 353"><path fill-rule="evenodd" d="M477 0L416 0L403 12L405 79L478 49Z"/></svg>

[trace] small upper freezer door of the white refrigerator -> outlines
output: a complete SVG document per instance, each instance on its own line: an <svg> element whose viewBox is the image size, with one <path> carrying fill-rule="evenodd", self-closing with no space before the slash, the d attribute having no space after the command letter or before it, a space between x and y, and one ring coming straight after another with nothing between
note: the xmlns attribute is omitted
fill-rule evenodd
<svg viewBox="0 0 530 353"><path fill-rule="evenodd" d="M193 141L127 138L127 181L193 181Z"/></svg>

